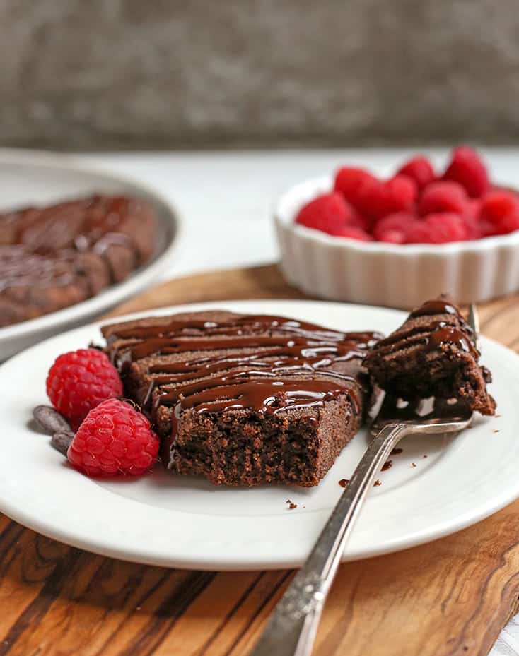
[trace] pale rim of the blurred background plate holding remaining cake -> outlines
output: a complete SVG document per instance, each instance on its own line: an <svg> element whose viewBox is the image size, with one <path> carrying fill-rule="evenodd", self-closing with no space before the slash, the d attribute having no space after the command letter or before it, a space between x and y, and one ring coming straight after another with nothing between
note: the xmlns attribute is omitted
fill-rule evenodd
<svg viewBox="0 0 519 656"><path fill-rule="evenodd" d="M142 193L143 196L150 198L153 203L161 206L168 213L167 222L171 231L171 240L165 248L156 254L151 261L134 270L126 280L110 285L99 294L95 294L84 301L0 328L0 347L8 340L28 338L30 335L43 333L45 330L63 328L73 321L81 320L83 323L84 321L91 321L93 314L106 314L110 311L110 308L123 302L128 296L133 296L146 289L165 268L173 253L177 251L180 241L182 241L185 227L177 206L173 205L163 193L142 182L136 176L117 174L117 172L112 172L103 165L82 160L81 157L72 153L57 153L54 151L0 148L0 162L8 165L33 165L45 169L60 170L66 168L79 174L103 178L104 181L123 187L126 186L128 189L134 190L134 193ZM134 282L134 285L132 285L132 282ZM122 290L131 291L126 294ZM103 301L103 309L98 312L100 298Z"/></svg>

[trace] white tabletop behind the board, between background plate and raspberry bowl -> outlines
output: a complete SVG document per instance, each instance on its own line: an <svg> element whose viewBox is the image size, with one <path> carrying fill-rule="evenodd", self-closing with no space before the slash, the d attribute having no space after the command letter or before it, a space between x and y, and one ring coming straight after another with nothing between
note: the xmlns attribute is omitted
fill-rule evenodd
<svg viewBox="0 0 519 656"><path fill-rule="evenodd" d="M146 182L175 203L185 223L182 244L164 278L272 262L277 255L272 203L286 187L355 162L380 174L414 152L280 150L225 153L110 153L90 162ZM438 164L445 150L422 150ZM483 149L494 179L519 186L519 149ZM491 656L519 656L519 616L503 629Z"/></svg>

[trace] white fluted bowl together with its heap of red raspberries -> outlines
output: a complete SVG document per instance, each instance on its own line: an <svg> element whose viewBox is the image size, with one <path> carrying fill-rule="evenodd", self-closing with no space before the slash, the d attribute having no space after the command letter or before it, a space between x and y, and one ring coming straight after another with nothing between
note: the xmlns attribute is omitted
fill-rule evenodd
<svg viewBox="0 0 519 656"><path fill-rule="evenodd" d="M420 155L387 179L340 167L288 189L274 220L285 278L314 296L409 308L519 289L519 195L467 146L443 169Z"/></svg>

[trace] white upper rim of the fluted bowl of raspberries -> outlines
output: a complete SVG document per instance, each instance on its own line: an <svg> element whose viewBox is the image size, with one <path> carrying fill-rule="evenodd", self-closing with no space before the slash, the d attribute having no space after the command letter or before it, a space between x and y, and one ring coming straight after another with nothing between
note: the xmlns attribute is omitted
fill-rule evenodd
<svg viewBox="0 0 519 656"><path fill-rule="evenodd" d="M308 178L285 189L276 198L272 207L276 225L303 239L317 241L322 246L364 251L366 253L388 253L398 257L460 253L477 254L484 251L491 251L500 246L519 246L519 230L509 232L508 234L498 234L494 237L483 237L482 239L450 241L448 244L390 244L387 241L360 241L351 237L335 237L327 232L322 232L321 230L305 225L299 225L294 221L295 215L293 213L284 211L284 204L289 199L295 200L299 197L302 201L303 191L306 196L312 187L317 192L326 185L329 186L329 191L333 190L333 177L331 175ZM322 191L322 193L326 193L326 191Z"/></svg>

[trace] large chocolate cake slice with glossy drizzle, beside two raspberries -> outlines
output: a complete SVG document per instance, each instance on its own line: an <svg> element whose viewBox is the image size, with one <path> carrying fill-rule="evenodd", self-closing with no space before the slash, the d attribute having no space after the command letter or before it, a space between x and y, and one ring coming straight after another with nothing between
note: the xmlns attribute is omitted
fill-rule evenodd
<svg viewBox="0 0 519 656"><path fill-rule="evenodd" d="M279 316L176 314L103 328L163 463L214 484L316 485L363 421L380 335Z"/></svg>

